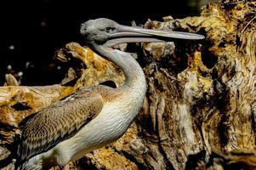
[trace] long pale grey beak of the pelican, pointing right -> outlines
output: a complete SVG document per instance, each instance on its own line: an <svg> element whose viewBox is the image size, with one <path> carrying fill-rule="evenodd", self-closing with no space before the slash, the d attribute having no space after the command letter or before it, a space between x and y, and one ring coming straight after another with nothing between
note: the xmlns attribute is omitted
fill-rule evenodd
<svg viewBox="0 0 256 170"><path fill-rule="evenodd" d="M187 40L201 40L204 36L181 31L150 30L131 26L117 26L117 31L112 33L105 47L112 47L125 42L168 42L174 38Z"/></svg>

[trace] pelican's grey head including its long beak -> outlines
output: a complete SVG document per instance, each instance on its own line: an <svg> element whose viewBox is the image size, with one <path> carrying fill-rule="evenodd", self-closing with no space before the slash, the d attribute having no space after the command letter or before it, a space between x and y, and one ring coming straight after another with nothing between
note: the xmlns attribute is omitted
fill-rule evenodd
<svg viewBox="0 0 256 170"><path fill-rule="evenodd" d="M104 45L112 47L123 42L163 42L173 38L199 40L202 35L180 32L150 30L139 27L122 26L109 19L88 20L82 24L80 30L88 45Z"/></svg>

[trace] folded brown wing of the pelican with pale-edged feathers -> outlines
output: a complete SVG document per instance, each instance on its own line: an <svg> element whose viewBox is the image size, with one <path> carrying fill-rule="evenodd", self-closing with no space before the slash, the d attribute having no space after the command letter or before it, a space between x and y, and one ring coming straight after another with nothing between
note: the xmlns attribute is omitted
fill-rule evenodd
<svg viewBox="0 0 256 170"><path fill-rule="evenodd" d="M22 125L20 163L74 136L100 113L103 105L100 94L84 89L38 111Z"/></svg>

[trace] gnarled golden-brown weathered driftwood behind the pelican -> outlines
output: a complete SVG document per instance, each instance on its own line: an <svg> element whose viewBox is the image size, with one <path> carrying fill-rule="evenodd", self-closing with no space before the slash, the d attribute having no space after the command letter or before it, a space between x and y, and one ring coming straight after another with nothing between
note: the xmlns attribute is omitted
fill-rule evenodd
<svg viewBox="0 0 256 170"><path fill-rule="evenodd" d="M145 27L206 39L125 46L145 71L143 108L121 139L71 162L71 169L256 168L256 3L208 4L201 16L149 20ZM26 116L79 88L124 80L116 65L77 43L56 56L83 65L71 64L59 85L20 87L7 76L0 88L0 168L13 167L14 134Z"/></svg>

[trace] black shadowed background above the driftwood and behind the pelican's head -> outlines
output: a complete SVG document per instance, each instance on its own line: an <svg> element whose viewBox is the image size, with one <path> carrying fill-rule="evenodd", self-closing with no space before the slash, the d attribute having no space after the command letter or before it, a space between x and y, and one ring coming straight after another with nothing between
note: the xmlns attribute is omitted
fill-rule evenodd
<svg viewBox="0 0 256 170"><path fill-rule="evenodd" d="M143 24L167 15L184 18L198 15L206 1L1 1L0 85L6 73L12 73L21 85L59 83L63 71L53 60L54 51L67 42L79 42L79 27L86 20L105 17L130 25L132 20Z"/></svg>

